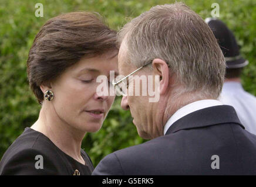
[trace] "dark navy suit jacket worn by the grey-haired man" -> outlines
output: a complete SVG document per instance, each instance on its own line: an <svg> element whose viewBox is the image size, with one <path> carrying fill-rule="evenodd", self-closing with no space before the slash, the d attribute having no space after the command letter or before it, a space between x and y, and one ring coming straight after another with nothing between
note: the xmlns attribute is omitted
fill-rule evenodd
<svg viewBox="0 0 256 187"><path fill-rule="evenodd" d="M256 175L256 136L232 106L213 106L177 120L164 136L107 155L93 175Z"/></svg>

